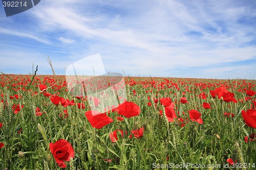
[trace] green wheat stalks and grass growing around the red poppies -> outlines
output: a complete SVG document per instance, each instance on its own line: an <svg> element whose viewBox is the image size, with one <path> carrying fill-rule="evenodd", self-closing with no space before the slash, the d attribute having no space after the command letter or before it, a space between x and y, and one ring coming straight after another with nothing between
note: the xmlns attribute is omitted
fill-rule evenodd
<svg viewBox="0 0 256 170"><path fill-rule="evenodd" d="M0 149L0 169L61 169L49 150L49 143L60 138L68 140L75 150L74 159L66 162L67 169L168 169L170 165L187 163L223 166L227 158L251 165L256 160L256 142L244 141L244 137L255 130L247 127L241 116L241 111L250 109L255 99L226 103L213 99L209 92L225 86L237 100L244 100L246 93L241 90L250 86L255 91L254 81L127 77L127 100L139 105L140 115L124 117L124 121L119 122L115 117L120 115L110 112L114 122L96 130L84 115L90 108L88 102L68 93L64 77L2 75L0 78L0 94L3 94L0 142L5 144ZM131 85L131 82L136 83ZM76 105L52 104L39 89L40 84L50 87L46 90L48 93L58 93L74 100ZM200 99L202 92L208 95L206 99ZM14 94L18 94L19 99L10 99ZM180 102L183 96L188 103ZM155 99L165 97L175 103L178 118L185 120L184 127L178 119L168 122L160 115L159 110L164 107L159 101L155 104ZM148 102L152 106L148 106ZM204 102L210 103L212 109L204 109ZM77 103L83 103L86 108L78 109ZM13 113L14 104L20 106L17 114ZM36 115L36 107L40 108L41 116ZM191 109L202 114L203 124L190 120L188 110ZM68 112L67 117L64 110ZM233 113L234 117L226 117L224 112ZM132 129L140 127L144 128L143 136L130 138ZM118 141L112 142L109 135L118 129L123 131L123 137L118 133Z"/></svg>

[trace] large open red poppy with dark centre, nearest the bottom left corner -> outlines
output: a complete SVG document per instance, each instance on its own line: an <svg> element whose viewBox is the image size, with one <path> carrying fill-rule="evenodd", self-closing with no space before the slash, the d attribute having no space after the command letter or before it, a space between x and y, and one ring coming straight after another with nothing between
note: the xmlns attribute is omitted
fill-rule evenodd
<svg viewBox="0 0 256 170"><path fill-rule="evenodd" d="M59 139L55 143L51 142L49 147L55 161L61 168L65 168L67 166L64 161L70 161L70 158L74 158L74 149L65 139Z"/></svg>

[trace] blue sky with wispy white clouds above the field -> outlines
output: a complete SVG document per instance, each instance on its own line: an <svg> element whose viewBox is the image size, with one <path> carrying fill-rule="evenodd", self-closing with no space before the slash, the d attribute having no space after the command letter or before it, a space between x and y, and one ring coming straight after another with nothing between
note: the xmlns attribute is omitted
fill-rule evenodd
<svg viewBox="0 0 256 170"><path fill-rule="evenodd" d="M6 17L0 71L56 74L100 53L106 72L129 76L255 79L256 1L42 0Z"/></svg>

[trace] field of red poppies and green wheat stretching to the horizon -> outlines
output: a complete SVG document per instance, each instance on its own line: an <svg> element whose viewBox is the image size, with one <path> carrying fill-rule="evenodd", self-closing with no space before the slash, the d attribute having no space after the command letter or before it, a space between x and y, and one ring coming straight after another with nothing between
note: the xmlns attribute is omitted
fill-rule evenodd
<svg viewBox="0 0 256 170"><path fill-rule="evenodd" d="M65 76L0 75L0 169L256 168L254 80L124 81L100 112Z"/></svg>

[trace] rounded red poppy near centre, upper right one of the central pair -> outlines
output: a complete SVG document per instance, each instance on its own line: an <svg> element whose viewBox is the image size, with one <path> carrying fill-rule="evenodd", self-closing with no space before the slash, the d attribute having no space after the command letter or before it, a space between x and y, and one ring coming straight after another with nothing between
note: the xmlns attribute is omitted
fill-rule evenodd
<svg viewBox="0 0 256 170"><path fill-rule="evenodd" d="M132 116L137 116L140 114L140 107L133 102L126 101L123 104L119 105L114 111L116 111L120 115L130 118Z"/></svg>

